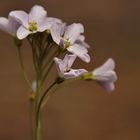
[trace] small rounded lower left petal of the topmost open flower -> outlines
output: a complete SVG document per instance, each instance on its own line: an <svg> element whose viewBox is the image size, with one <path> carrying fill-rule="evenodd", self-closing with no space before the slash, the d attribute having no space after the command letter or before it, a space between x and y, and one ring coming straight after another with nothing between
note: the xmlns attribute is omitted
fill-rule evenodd
<svg viewBox="0 0 140 140"><path fill-rule="evenodd" d="M30 34L30 32L26 28L24 28L24 26L20 26L19 29L17 30L18 39L24 39L29 34Z"/></svg>

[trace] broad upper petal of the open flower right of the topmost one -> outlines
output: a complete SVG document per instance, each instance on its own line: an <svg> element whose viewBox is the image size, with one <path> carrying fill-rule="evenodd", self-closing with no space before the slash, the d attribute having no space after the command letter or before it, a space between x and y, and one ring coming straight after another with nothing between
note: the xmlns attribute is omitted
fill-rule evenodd
<svg viewBox="0 0 140 140"><path fill-rule="evenodd" d="M67 26L64 34L65 39L69 39L70 43L73 44L80 36L84 33L84 27L80 23L73 23Z"/></svg>

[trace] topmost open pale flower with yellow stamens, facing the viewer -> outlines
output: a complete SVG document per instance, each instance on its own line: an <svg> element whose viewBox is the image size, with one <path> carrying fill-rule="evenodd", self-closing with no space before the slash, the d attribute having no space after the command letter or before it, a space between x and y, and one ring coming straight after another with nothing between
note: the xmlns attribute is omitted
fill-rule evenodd
<svg viewBox="0 0 140 140"><path fill-rule="evenodd" d="M17 37L19 39L24 39L29 34L50 29L53 22L61 22L57 18L47 18L47 11L39 5L33 6L29 14L21 10L15 10L11 12L11 16L21 23L17 30Z"/></svg>

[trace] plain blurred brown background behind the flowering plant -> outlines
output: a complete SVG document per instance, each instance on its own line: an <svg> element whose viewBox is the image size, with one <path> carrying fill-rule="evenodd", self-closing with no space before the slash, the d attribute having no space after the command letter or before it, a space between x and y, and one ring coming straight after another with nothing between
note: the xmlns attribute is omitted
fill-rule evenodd
<svg viewBox="0 0 140 140"><path fill-rule="evenodd" d="M112 94L94 82L75 82L57 92L44 111L44 140L140 140L140 1L1 0L0 16L44 6L49 16L81 22L91 45L92 70L107 58L116 61L118 81ZM23 50L33 77L31 53ZM0 140L31 140L28 87L12 39L0 32Z"/></svg>

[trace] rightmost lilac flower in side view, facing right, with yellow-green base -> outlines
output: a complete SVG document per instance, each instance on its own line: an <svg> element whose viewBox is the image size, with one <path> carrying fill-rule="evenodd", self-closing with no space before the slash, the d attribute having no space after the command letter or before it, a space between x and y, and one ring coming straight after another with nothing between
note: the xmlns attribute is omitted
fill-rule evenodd
<svg viewBox="0 0 140 140"><path fill-rule="evenodd" d="M107 91L113 91L115 89L114 82L117 80L114 68L115 62L112 58L109 58L102 66L92 72L85 73L83 77L86 80L96 80Z"/></svg>

